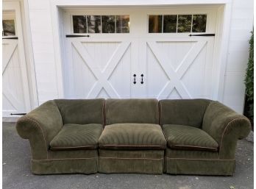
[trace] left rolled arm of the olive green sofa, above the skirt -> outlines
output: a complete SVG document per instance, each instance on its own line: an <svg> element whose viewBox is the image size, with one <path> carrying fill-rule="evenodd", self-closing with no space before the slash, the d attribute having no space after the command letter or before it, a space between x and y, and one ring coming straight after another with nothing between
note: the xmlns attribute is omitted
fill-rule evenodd
<svg viewBox="0 0 256 189"><path fill-rule="evenodd" d="M49 143L62 126L63 119L54 101L46 101L16 123L18 135L29 139L33 160L48 159Z"/></svg>

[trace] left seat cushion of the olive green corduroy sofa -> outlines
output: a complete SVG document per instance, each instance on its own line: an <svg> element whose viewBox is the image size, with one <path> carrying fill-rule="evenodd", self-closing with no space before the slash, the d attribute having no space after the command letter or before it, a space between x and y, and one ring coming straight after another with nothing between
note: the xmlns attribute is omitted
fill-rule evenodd
<svg viewBox="0 0 256 189"><path fill-rule="evenodd" d="M65 124L51 140L50 149L52 151L97 149L102 129L102 124Z"/></svg>

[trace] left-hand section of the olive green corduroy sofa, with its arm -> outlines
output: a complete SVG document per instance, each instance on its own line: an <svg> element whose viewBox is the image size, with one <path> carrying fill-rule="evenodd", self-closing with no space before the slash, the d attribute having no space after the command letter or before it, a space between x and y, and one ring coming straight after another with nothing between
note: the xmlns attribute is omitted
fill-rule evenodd
<svg viewBox="0 0 256 189"><path fill-rule="evenodd" d="M104 99L52 100L19 118L16 129L29 139L32 173L96 173L103 114Z"/></svg>

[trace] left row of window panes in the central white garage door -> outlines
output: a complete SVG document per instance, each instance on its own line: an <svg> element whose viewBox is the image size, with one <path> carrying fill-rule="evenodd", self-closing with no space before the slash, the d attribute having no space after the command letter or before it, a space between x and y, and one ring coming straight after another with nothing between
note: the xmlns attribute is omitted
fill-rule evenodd
<svg viewBox="0 0 256 189"><path fill-rule="evenodd" d="M129 15L73 15L74 33L129 33Z"/></svg>

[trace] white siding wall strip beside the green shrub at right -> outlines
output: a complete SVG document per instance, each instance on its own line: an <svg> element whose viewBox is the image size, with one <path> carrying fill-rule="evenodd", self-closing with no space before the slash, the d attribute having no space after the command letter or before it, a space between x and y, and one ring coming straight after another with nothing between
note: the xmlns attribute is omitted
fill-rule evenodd
<svg viewBox="0 0 256 189"><path fill-rule="evenodd" d="M243 113L243 85L249 57L249 38L253 26L253 0L233 0L230 43L224 82L223 102Z"/></svg>

